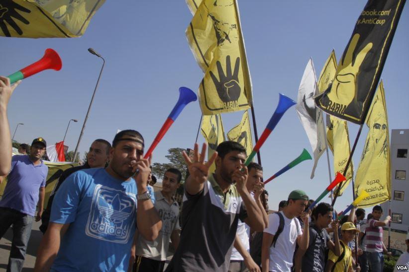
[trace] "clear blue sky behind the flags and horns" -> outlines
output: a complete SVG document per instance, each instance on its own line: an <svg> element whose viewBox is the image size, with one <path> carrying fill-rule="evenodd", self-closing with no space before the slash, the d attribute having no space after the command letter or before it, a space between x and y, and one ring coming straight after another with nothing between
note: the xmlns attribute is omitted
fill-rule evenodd
<svg viewBox="0 0 409 272"><path fill-rule="evenodd" d="M277 106L279 92L297 99L310 57L317 74L332 48L339 60L365 3L239 1L259 134ZM405 7L382 73L390 130L409 128L408 12ZM185 37L191 18L184 0L106 1L81 38L0 37L2 75L38 60L46 48L55 49L63 61L61 71L45 71L26 79L13 93L8 107L11 133L17 123L24 123L16 133L17 141L31 143L34 137L43 136L53 143L62 140L70 119L78 119L78 123L71 123L66 137L70 150L75 148L102 65L101 59L87 51L93 47L106 65L80 144L81 157L94 139L111 141L117 129L136 129L150 145L176 103L178 88L196 91L203 77ZM240 122L241 114L222 115L226 132ZM154 161L166 162L170 147L192 147L200 116L199 104L189 104L156 148ZM350 124L349 131L352 144L358 126ZM366 132L367 128L353 158L356 167ZM199 136L199 142L203 141ZM293 107L261 149L265 178L292 161L303 148L311 152ZM328 184L325 156L310 180L312 164L303 162L268 184L271 208L277 208L294 189L305 190L311 198L321 193ZM338 210L352 202L351 190L349 187L337 201Z"/></svg>

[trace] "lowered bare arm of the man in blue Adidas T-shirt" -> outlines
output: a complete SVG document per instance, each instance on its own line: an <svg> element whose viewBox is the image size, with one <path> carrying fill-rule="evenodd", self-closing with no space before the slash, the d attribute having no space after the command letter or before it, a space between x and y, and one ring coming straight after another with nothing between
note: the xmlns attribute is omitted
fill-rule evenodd
<svg viewBox="0 0 409 272"><path fill-rule="evenodd" d="M47 231L38 247L37 259L35 260L34 272L49 271L60 249L61 239L67 232L70 224L58 224L50 222Z"/></svg>

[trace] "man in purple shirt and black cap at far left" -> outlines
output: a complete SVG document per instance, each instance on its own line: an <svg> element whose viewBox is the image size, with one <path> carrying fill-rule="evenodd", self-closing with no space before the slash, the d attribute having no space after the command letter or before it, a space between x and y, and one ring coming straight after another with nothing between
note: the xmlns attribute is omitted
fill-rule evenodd
<svg viewBox="0 0 409 272"><path fill-rule="evenodd" d="M0 239L13 225L7 272L21 271L23 268L37 203L38 213L35 220L41 219L48 174L48 167L41 157L46 146L43 138L36 138L31 144L30 155L15 155L11 159L11 171L8 173L7 184L0 200Z"/></svg>

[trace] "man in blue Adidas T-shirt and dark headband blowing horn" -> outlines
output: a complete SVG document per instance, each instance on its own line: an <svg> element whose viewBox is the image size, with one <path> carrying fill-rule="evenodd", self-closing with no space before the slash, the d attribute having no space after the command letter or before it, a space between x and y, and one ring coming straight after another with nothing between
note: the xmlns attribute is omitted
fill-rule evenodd
<svg viewBox="0 0 409 272"><path fill-rule="evenodd" d="M55 196L34 271L124 271L136 227L146 240L156 239L162 221L146 189L151 157L144 159L143 149L140 133L121 131L105 169L67 178Z"/></svg>

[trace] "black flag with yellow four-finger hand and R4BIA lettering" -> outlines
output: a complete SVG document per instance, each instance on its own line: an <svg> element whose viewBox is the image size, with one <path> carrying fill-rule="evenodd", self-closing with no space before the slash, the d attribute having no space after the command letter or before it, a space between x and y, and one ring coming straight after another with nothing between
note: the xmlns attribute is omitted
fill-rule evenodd
<svg viewBox="0 0 409 272"><path fill-rule="evenodd" d="M369 0L356 21L330 87L317 107L363 124L406 0Z"/></svg>

